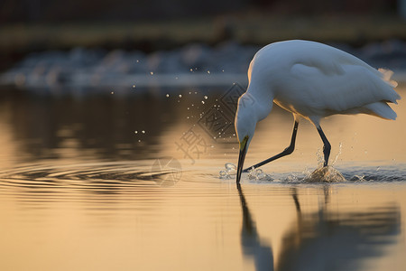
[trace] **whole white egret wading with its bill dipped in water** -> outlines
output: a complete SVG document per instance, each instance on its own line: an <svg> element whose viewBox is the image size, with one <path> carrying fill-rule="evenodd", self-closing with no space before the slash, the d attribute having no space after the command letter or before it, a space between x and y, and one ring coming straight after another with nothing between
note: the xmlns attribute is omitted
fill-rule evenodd
<svg viewBox="0 0 406 271"><path fill-rule="evenodd" d="M388 103L396 104L401 97L394 90L397 83L391 76L390 70L375 70L345 51L318 42L274 42L257 51L248 69L248 89L238 99L235 115L240 145L236 182L240 182L256 123L268 116L272 103L293 114L291 145L253 167L293 152L300 118L308 119L318 129L327 166L331 145L320 119L358 113L395 119L396 113Z"/></svg>

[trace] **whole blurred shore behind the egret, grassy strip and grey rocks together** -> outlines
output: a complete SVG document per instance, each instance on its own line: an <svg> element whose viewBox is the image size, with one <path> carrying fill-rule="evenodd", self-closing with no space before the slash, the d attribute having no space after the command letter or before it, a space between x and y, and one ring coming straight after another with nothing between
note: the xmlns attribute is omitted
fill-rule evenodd
<svg viewBox="0 0 406 271"><path fill-rule="evenodd" d="M406 81L406 21L397 16L248 12L139 23L5 24L0 31L0 86L245 85L254 53L265 44L290 39L328 43Z"/></svg>

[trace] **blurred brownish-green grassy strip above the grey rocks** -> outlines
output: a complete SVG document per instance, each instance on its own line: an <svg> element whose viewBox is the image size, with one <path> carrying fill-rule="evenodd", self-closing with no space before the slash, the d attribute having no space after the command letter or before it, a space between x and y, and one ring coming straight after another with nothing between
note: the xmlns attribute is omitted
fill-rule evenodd
<svg viewBox="0 0 406 271"><path fill-rule="evenodd" d="M0 70L31 52L76 47L152 52L190 42L210 46L234 41L263 46L283 40L346 43L353 47L390 39L406 40L406 21L395 15L227 14L217 17L127 23L2 23Z"/></svg>

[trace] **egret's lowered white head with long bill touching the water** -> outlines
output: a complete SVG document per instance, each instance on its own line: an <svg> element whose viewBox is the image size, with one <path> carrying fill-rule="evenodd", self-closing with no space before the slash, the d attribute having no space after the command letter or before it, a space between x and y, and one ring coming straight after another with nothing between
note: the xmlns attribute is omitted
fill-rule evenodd
<svg viewBox="0 0 406 271"><path fill-rule="evenodd" d="M251 140L253 139L257 120L258 118L254 110L254 98L245 93L238 99L238 108L235 114L235 131L240 144L236 182L240 182L241 173L243 173L245 154L248 151L248 146L250 145Z"/></svg>

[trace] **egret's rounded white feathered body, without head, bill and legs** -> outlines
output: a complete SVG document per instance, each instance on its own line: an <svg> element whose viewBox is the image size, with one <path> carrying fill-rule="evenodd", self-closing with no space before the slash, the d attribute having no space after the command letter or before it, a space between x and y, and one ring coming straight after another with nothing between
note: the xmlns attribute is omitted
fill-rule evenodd
<svg viewBox="0 0 406 271"><path fill-rule="evenodd" d="M271 86L277 104L313 121L337 113L393 118L396 114L386 103L401 97L390 75L325 44L275 42L255 54L247 91L266 97L263 93Z"/></svg>

